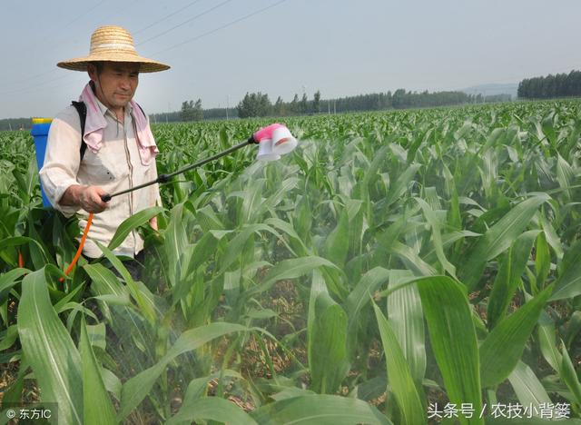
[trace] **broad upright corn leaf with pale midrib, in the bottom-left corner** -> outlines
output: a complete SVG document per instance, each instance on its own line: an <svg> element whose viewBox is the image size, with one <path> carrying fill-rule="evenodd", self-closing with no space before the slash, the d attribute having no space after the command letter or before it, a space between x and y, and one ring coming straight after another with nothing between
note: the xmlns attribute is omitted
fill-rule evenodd
<svg viewBox="0 0 581 425"><path fill-rule="evenodd" d="M22 282L18 333L42 400L57 402L59 420L83 423L81 356L51 304L44 268Z"/></svg>

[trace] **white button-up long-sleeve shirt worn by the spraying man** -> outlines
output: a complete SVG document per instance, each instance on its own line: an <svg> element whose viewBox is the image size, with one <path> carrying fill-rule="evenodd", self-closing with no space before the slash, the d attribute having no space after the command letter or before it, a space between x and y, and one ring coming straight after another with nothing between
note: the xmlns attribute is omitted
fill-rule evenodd
<svg viewBox="0 0 581 425"><path fill-rule="evenodd" d="M89 213L78 207L59 204L68 187L74 184L95 185L102 187L106 193L116 193L157 179L155 161L149 165L141 162L131 104L125 107L124 123L119 122L115 114L98 100L97 104L107 122L101 149L93 153L87 148L81 162L81 120L74 106L68 106L51 124L44 165L40 171L44 192L50 203L67 217L79 213L79 225L83 230ZM155 204L162 205L157 183L113 197L109 208L94 214L84 244L84 255L92 258L101 256L101 250L93 241L108 245L125 219ZM143 238L133 231L114 252L133 257L142 249Z"/></svg>

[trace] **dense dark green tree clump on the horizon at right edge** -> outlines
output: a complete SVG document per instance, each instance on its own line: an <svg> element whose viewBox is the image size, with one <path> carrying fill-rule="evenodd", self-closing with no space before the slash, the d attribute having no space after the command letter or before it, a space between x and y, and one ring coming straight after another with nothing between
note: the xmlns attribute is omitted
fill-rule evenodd
<svg viewBox="0 0 581 425"><path fill-rule="evenodd" d="M523 99L581 96L581 71L526 78L518 84L517 95Z"/></svg>

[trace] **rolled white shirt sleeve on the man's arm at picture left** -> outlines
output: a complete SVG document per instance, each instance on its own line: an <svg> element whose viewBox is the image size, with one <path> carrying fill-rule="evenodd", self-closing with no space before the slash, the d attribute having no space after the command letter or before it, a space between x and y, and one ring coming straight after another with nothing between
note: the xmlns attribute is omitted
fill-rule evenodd
<svg viewBox="0 0 581 425"><path fill-rule="evenodd" d="M59 203L70 186L81 184L77 181L81 160L80 120L76 111L73 112L67 109L54 118L46 141L44 165L39 173L46 197L54 209L67 217L80 209Z"/></svg>

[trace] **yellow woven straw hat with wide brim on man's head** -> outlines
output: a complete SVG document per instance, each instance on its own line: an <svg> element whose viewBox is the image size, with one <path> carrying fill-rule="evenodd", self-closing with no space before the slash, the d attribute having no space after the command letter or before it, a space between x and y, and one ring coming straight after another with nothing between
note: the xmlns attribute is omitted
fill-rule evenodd
<svg viewBox="0 0 581 425"><path fill-rule="evenodd" d="M140 73L156 73L170 69L166 64L137 54L129 31L113 25L101 26L94 30L88 56L76 57L56 65L73 71L86 71L88 63L99 61L138 63L141 64Z"/></svg>

